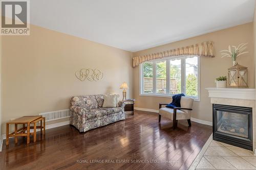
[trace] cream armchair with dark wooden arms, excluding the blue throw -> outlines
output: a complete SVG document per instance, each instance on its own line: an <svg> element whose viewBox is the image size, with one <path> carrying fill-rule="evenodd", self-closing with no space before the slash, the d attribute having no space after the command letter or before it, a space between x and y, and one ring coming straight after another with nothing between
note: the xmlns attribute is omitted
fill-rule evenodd
<svg viewBox="0 0 256 170"><path fill-rule="evenodd" d="M181 97L180 105L181 107L175 108L162 108L163 105L168 105L167 103L159 103L159 115L158 122L161 122L161 116L173 120L173 129L178 125L178 120L187 119L188 126L191 126L191 110L193 107L194 100L185 96Z"/></svg>

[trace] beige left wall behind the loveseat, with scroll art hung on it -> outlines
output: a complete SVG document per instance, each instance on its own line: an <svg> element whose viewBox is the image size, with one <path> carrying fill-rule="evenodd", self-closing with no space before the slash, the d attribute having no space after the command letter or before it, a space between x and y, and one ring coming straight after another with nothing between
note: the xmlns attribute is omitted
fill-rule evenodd
<svg viewBox="0 0 256 170"><path fill-rule="evenodd" d="M126 81L127 97L132 97L132 53L36 26L30 29L30 36L2 39L2 134L11 118L68 109L73 95L122 96L119 86ZM98 68L104 78L81 82L75 77L81 68Z"/></svg>

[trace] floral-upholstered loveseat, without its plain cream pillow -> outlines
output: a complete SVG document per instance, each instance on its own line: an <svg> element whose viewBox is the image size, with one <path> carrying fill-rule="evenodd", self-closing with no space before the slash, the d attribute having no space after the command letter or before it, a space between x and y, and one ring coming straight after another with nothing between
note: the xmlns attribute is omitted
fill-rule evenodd
<svg viewBox="0 0 256 170"><path fill-rule="evenodd" d="M102 108L103 101L103 94L73 96L70 124L86 132L125 119L123 102L118 103L119 107Z"/></svg>

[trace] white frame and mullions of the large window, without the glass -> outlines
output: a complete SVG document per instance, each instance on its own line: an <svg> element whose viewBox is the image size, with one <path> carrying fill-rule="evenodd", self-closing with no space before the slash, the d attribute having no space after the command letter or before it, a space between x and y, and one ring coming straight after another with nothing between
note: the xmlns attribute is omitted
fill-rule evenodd
<svg viewBox="0 0 256 170"><path fill-rule="evenodd" d="M181 58L181 60L183 59L185 59L185 58L182 58L183 56L179 56L179 57L177 57L177 58ZM186 95L186 96L188 96L188 97L191 97L191 98L193 98L194 99L194 101L196 101L196 102L200 102L200 89L201 89L201 86L200 86L200 82L201 82L201 79L200 79L200 75L201 75L201 71L200 71L200 56L197 56L198 57L198 98L195 98L195 96L189 96L189 95ZM153 61L161 61L161 60L168 60L169 58L166 58L166 59L158 59L158 60L153 60ZM167 64L168 63L168 64ZM182 62L181 62L182 63ZM142 63L143 64L143 63ZM159 94L159 93L156 93L156 87L154 87L154 86L156 86L156 74L154 74L154 72L156 73L156 64L154 63L153 64L153 75L155 75L154 77L153 77L153 92L154 93L144 93L143 92L143 84L144 84L144 82L143 82L143 79L142 79L142 77L143 77L143 67L142 67L142 64L140 64L139 65L139 95L140 96L154 96L154 97L161 97L161 98L172 98L172 94ZM166 76L168 75L167 74L167 72L169 72L169 62L166 62ZM183 67L183 69L182 69L182 67ZM185 67L185 65L184 65L184 62L183 62L183 64L181 64L181 70L183 71L183 74L181 74L181 79L184 79L183 81L181 81L181 82L183 82L182 84L181 84L181 86L183 86L183 88L181 88L181 89L186 89L185 88L185 84L184 84L184 82L186 82L185 81L185 79L186 79L186 77L184 76L184 75L186 75L185 73L186 73L186 69L185 69L186 67ZM183 76L182 76L183 75ZM168 76L167 76L168 77ZM167 83L167 81L169 81L170 79L169 78L167 78L166 77L166 83ZM155 83L154 83L155 82ZM169 87L168 87L169 88ZM168 89L169 90L169 89ZM182 93L185 93L185 91L184 90L182 90L181 91ZM167 93L167 87L166 87L166 93Z"/></svg>

